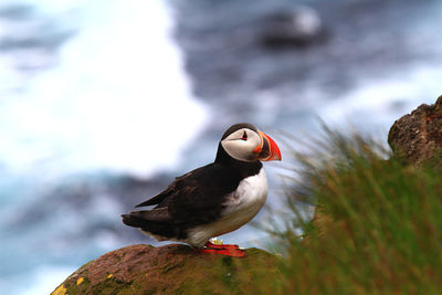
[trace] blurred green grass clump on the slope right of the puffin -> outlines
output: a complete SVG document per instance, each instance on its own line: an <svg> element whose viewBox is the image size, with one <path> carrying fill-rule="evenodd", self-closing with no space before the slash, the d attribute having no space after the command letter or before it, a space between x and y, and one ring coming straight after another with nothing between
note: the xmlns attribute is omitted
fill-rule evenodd
<svg viewBox="0 0 442 295"><path fill-rule="evenodd" d="M442 165L407 166L372 140L326 134L294 152L293 214L273 231L287 253L281 293L441 294Z"/></svg>

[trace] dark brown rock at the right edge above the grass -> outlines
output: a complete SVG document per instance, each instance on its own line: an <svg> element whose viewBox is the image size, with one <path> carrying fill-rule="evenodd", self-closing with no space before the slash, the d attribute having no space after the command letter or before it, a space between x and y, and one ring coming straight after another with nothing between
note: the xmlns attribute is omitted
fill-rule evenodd
<svg viewBox="0 0 442 295"><path fill-rule="evenodd" d="M393 152L415 165L440 160L442 150L442 96L434 105L420 105L396 120L388 143Z"/></svg>

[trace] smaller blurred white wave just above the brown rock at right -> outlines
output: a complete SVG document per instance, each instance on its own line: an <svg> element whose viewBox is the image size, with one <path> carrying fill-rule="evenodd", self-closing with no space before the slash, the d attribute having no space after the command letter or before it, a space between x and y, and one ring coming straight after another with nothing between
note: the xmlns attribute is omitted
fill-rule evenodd
<svg viewBox="0 0 442 295"><path fill-rule="evenodd" d="M364 80L344 97L325 104L318 112L325 122L340 126L367 127L382 131L421 104L433 104L442 94L441 64L412 65L390 76Z"/></svg>

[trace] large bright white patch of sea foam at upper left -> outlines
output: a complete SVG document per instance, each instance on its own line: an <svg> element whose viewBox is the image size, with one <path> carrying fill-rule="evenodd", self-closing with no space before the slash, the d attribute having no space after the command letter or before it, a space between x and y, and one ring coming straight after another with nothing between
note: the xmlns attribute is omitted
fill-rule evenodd
<svg viewBox="0 0 442 295"><path fill-rule="evenodd" d="M44 13L74 11L80 29L62 45L56 66L0 102L2 168L149 176L177 165L207 109L190 95L164 3L22 2ZM9 76L4 69L0 77Z"/></svg>

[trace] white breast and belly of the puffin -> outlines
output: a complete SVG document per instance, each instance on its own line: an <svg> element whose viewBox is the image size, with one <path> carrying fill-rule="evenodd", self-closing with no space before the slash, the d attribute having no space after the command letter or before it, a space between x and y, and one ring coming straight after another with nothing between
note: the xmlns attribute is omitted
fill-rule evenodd
<svg viewBox="0 0 442 295"><path fill-rule="evenodd" d="M210 238L241 228L264 206L267 191L267 178L264 168L261 168L257 175L243 179L236 191L228 198L221 219L192 229L187 242L196 246L203 245Z"/></svg>

